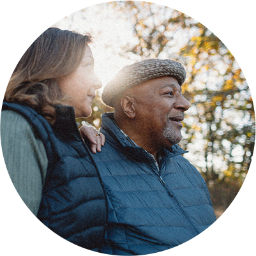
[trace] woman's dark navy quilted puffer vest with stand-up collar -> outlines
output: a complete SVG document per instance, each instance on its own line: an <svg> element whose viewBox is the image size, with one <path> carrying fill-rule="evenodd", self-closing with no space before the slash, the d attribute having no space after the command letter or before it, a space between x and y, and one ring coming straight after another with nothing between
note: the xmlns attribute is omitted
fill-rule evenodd
<svg viewBox="0 0 256 256"><path fill-rule="evenodd" d="M53 126L26 106L3 103L3 110L24 116L45 146L49 165L38 219L71 243L99 251L107 201L91 153L77 129L73 107L57 106Z"/></svg>

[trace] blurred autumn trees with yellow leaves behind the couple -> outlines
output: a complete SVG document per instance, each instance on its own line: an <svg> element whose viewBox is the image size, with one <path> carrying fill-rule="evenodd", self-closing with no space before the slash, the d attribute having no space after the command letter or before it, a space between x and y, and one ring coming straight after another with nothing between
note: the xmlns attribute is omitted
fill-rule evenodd
<svg viewBox="0 0 256 256"><path fill-rule="evenodd" d="M170 58L185 66L182 89L190 109L185 112L179 145L190 151L184 157L206 180L220 216L239 192L254 148L255 114L241 68L215 34L184 13L139 1L99 4L98 13L108 8L126 20L133 33L119 56L132 62ZM96 31L91 33L97 38ZM99 128L106 111L111 109L97 96L86 121Z"/></svg>

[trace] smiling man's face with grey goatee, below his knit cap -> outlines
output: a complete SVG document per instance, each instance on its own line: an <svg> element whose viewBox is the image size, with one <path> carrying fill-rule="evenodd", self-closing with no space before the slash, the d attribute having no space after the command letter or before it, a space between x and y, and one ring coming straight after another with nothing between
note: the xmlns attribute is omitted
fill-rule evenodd
<svg viewBox="0 0 256 256"><path fill-rule="evenodd" d="M170 147L181 140L184 111L190 107L173 77L151 79L131 88L140 128L150 144ZM141 129L140 129L141 130Z"/></svg>

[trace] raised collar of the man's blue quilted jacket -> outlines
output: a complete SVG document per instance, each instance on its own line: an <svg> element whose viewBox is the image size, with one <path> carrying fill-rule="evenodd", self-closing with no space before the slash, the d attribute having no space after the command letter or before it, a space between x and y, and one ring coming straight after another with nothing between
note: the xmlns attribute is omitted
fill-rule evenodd
<svg viewBox="0 0 256 256"><path fill-rule="evenodd" d="M142 147L139 146L133 146L131 142L123 135L121 130L117 128L116 124L114 123L114 113L104 113L102 115L102 130L101 132L109 133L110 136L107 135L106 139L109 140L109 143L112 144L112 146L117 147L120 150L126 151L128 154L132 154L133 158L139 158L141 157L141 154L145 154L145 150L142 149ZM106 134L105 134L106 135ZM188 151L185 151L181 149L177 144L175 144L172 147L169 147L168 149L162 149L162 157L173 157L177 156L179 154L188 153Z"/></svg>

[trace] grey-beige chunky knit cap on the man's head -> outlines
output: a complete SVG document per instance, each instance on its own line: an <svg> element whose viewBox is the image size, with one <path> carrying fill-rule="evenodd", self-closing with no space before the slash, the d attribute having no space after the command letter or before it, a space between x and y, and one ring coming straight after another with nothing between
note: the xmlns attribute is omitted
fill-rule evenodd
<svg viewBox="0 0 256 256"><path fill-rule="evenodd" d="M114 107L114 100L126 89L158 77L174 77L182 86L186 71L181 63L171 59L146 59L124 66L103 89L102 101Z"/></svg>

